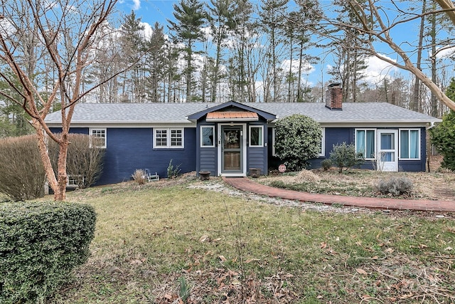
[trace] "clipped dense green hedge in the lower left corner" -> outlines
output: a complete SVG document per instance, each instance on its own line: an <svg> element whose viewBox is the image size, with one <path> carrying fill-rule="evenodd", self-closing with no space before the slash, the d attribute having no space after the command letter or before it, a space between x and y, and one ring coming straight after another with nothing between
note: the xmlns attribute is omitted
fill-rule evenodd
<svg viewBox="0 0 455 304"><path fill-rule="evenodd" d="M87 261L92 206L65 202L0 204L0 303L41 303Z"/></svg>

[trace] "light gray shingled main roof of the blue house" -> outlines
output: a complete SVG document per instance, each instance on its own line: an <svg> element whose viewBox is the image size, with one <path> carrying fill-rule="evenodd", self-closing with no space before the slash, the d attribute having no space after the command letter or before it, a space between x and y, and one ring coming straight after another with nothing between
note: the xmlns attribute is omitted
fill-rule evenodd
<svg viewBox="0 0 455 304"><path fill-rule="evenodd" d="M75 106L72 125L127 123L192 123L186 118L219 103L80 103ZM308 115L320 123L353 122L439 122L441 120L389 103L344 103L343 110L330 110L324 103L247 103L264 112L286 117L294 113ZM45 121L60 123L60 112Z"/></svg>

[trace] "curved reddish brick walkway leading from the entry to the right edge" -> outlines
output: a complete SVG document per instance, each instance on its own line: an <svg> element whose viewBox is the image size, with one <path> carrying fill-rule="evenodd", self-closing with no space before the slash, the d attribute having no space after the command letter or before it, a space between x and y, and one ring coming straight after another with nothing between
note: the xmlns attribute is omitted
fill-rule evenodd
<svg viewBox="0 0 455 304"><path fill-rule="evenodd" d="M341 204L345 206L360 206L378 209L446 211L455 212L455 201L433 201L429 199L382 199L362 196L342 196L329 194L312 194L287 189L265 186L245 177L223 177L223 181L232 187L245 192L253 192L266 196L291 199L294 201L309 201L322 204Z"/></svg>

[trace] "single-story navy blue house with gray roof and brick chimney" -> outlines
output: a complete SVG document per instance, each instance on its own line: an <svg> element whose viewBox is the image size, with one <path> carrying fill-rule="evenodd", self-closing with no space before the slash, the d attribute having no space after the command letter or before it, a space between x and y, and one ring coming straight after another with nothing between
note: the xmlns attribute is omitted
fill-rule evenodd
<svg viewBox="0 0 455 304"><path fill-rule="evenodd" d="M251 168L277 169L274 123L294 113L323 129L320 167L333 145L348 142L363 152L365 168L425 171L427 128L441 120L389 103L343 103L329 85L326 103L80 103L70 132L98 137L106 149L98 184L131 179L136 169L166 177L169 162L181 172L247 176ZM60 112L45 119L61 130Z"/></svg>

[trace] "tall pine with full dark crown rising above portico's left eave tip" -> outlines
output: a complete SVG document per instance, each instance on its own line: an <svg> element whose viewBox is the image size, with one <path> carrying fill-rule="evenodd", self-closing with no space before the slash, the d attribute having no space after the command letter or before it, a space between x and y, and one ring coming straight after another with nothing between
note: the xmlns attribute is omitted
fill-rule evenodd
<svg viewBox="0 0 455 304"><path fill-rule="evenodd" d="M183 43L186 67L183 74L186 77L186 102L193 101L193 53L196 53L195 44L203 38L200 31L204 25L207 14L203 4L198 0L181 0L173 5L173 16L176 21L168 20L169 29L173 31L171 37L174 43Z"/></svg>

